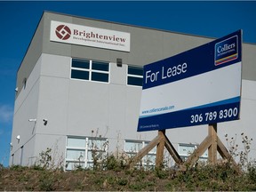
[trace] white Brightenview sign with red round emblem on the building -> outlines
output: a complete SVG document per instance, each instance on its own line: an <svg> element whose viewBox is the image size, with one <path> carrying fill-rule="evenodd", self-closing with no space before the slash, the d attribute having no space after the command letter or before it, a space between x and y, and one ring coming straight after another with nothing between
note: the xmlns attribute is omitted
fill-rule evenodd
<svg viewBox="0 0 256 192"><path fill-rule="evenodd" d="M51 21L50 40L103 49L130 52L130 33Z"/></svg>

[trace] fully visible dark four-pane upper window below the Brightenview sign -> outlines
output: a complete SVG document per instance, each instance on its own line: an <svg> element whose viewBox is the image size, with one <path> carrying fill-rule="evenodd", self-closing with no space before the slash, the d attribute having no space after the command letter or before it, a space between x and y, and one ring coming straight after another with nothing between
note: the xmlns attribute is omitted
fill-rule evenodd
<svg viewBox="0 0 256 192"><path fill-rule="evenodd" d="M109 82L109 63L96 60L72 60L71 78L94 82Z"/></svg>

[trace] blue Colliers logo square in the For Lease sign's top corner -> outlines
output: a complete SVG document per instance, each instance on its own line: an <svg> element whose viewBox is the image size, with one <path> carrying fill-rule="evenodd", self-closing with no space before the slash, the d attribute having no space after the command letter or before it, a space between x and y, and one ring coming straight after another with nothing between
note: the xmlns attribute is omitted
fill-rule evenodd
<svg viewBox="0 0 256 192"><path fill-rule="evenodd" d="M238 58L238 36L232 36L215 44L215 66Z"/></svg>

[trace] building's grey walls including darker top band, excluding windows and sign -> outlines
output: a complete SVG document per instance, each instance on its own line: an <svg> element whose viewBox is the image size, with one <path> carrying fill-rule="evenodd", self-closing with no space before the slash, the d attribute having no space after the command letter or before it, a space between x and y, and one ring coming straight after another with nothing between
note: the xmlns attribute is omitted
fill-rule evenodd
<svg viewBox="0 0 256 192"><path fill-rule="evenodd" d="M51 20L131 33L131 52L51 42ZM67 136L108 138L110 151L124 150L124 140L154 139L156 131L137 132L141 87L126 84L127 65L143 66L210 41L211 38L45 12L18 71L19 92L12 129L13 164L34 164L36 156L46 148L52 148L54 156L60 157L58 162L63 160ZM241 119L218 124L220 140L227 146L226 133L230 137L236 135L239 143L242 132L250 138L255 135L254 55L255 45L243 44ZM72 58L111 62L109 84L70 79ZM116 58L123 60L122 68L116 66ZM24 78L28 80L23 90ZM30 118L36 118L36 122L28 122ZM43 119L47 119L47 124ZM171 129L166 134L178 149L179 143L200 144L208 135L207 127L206 124ZM20 135L19 142L17 135ZM243 145L239 148L243 149ZM251 149L255 157L254 140Z"/></svg>

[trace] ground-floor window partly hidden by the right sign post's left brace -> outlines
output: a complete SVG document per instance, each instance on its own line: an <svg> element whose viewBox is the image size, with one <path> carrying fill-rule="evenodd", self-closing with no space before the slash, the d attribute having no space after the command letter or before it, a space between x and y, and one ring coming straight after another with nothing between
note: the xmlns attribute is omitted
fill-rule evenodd
<svg viewBox="0 0 256 192"><path fill-rule="evenodd" d="M194 150L197 148L196 144L180 143L179 144L179 155L182 160L187 160ZM208 152L205 151L203 156L200 156L199 160L207 160Z"/></svg>

